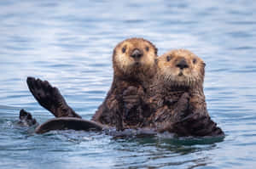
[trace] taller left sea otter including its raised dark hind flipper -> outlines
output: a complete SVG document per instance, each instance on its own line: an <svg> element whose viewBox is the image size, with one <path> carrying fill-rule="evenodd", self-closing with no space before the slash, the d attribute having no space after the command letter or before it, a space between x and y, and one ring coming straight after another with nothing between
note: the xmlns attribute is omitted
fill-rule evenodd
<svg viewBox="0 0 256 169"><path fill-rule="evenodd" d="M145 116L150 116L143 97L156 70L157 48L143 38L126 39L113 49L113 82L92 121L117 130L140 127ZM56 87L33 77L27 85L38 103L55 117L78 117ZM135 96L135 97L133 97Z"/></svg>

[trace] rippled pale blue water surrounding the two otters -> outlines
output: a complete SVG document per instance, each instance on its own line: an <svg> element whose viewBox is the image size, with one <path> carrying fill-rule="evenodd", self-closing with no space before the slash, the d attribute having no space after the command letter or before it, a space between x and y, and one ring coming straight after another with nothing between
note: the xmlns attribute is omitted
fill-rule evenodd
<svg viewBox="0 0 256 169"><path fill-rule="evenodd" d="M254 168L256 165L256 3L248 1L0 2L0 168ZM223 141L165 136L119 138L15 125L21 108L53 116L26 76L59 87L90 119L112 82L111 54L128 37L187 48L207 63L205 93Z"/></svg>

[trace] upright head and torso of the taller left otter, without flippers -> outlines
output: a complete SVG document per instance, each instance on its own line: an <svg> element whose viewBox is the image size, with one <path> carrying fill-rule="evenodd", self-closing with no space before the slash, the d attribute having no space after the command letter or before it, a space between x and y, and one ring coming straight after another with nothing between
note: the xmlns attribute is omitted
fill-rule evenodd
<svg viewBox="0 0 256 169"><path fill-rule="evenodd" d="M112 86L92 121L117 130L142 127L150 116L143 96L154 78L156 58L157 48L143 38L119 42L113 49Z"/></svg>

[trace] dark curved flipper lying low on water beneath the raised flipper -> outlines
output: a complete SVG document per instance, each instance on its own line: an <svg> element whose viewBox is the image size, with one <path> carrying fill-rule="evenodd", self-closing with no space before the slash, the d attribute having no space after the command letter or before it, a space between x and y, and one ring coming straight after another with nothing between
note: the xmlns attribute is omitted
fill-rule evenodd
<svg viewBox="0 0 256 169"><path fill-rule="evenodd" d="M83 130L83 131L102 131L103 125L95 121L87 121L74 117L60 117L50 119L36 128L36 133L44 133L52 130Z"/></svg>

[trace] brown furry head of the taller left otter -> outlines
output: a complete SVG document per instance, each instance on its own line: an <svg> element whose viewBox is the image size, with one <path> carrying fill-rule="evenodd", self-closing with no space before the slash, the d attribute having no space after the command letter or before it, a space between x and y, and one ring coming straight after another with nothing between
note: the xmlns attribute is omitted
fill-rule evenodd
<svg viewBox="0 0 256 169"><path fill-rule="evenodd" d="M113 50L114 75L121 78L140 78L154 73L157 48L143 38L126 39Z"/></svg>

